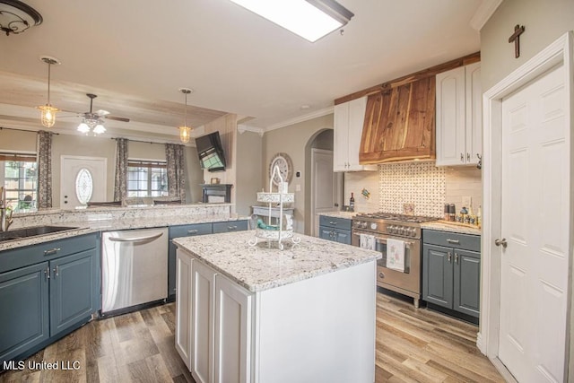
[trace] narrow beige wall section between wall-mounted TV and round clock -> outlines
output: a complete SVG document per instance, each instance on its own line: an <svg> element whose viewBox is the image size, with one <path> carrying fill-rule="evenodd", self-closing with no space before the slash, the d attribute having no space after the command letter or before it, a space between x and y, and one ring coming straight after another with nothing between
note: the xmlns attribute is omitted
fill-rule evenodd
<svg viewBox="0 0 574 383"><path fill-rule="evenodd" d="M263 137L244 132L237 135L236 210L239 215L250 215L257 205L257 192L263 187Z"/></svg>

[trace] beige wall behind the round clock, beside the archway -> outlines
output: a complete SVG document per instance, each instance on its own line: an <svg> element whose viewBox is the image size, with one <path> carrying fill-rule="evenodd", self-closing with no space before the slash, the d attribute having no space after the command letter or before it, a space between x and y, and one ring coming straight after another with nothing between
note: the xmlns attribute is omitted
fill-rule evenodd
<svg viewBox="0 0 574 383"><path fill-rule="evenodd" d="M285 152L293 162L293 178L289 184L289 191L295 193L295 231L306 232L305 211L309 209L307 188L310 185L310 143L315 136L325 129L333 129L333 114L320 118L313 118L281 129L272 130L263 136L263 185L269 188L269 161L278 152ZM309 167L309 169L308 169ZM300 177L295 173L300 172ZM297 191L299 185L300 190Z"/></svg>

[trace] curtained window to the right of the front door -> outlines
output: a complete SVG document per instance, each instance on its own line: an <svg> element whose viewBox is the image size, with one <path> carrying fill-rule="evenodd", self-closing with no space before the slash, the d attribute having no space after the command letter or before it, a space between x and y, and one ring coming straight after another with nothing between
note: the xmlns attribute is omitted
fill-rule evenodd
<svg viewBox="0 0 574 383"><path fill-rule="evenodd" d="M166 162L129 160L127 196L168 196Z"/></svg>

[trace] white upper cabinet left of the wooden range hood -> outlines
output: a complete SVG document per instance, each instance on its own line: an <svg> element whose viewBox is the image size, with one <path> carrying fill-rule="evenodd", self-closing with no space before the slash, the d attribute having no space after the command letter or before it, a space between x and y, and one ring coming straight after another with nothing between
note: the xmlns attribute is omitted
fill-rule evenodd
<svg viewBox="0 0 574 383"><path fill-rule="evenodd" d="M335 105L334 171L377 170L377 165L359 163L362 126L367 96Z"/></svg>

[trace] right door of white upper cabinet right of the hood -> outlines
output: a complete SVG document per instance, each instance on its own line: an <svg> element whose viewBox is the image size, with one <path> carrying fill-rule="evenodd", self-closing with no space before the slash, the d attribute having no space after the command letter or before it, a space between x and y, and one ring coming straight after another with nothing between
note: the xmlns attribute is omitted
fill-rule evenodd
<svg viewBox="0 0 574 383"><path fill-rule="evenodd" d="M483 155L483 87L481 63L465 66L466 75L466 163L478 163Z"/></svg>

